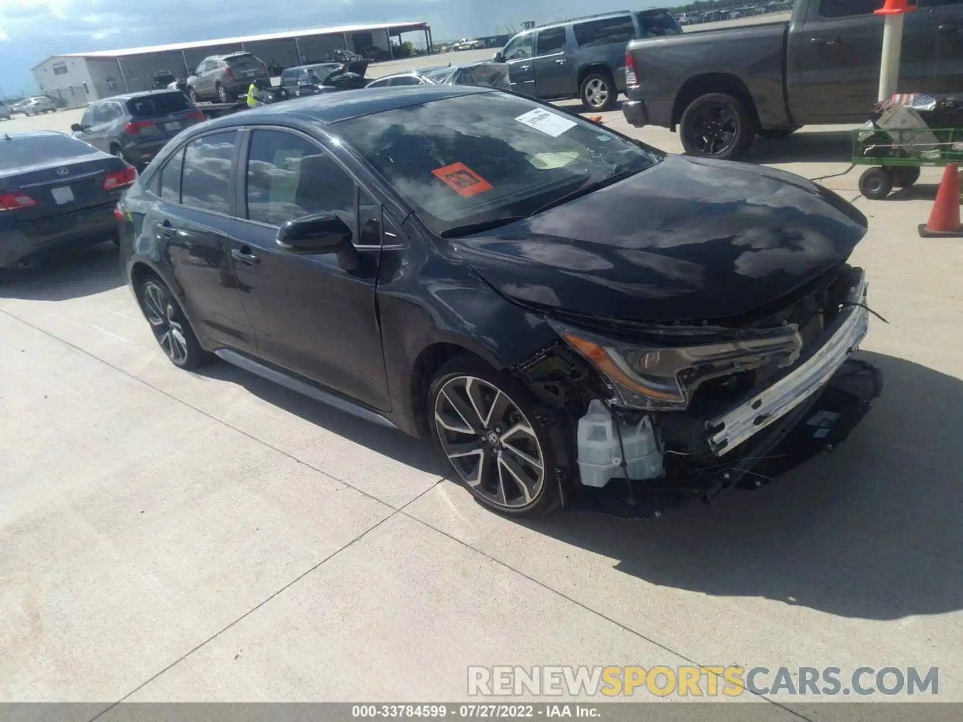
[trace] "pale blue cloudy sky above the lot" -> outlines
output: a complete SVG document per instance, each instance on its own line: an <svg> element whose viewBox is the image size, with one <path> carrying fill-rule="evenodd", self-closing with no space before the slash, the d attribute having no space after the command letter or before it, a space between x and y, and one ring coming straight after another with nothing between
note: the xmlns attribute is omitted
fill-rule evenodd
<svg viewBox="0 0 963 722"><path fill-rule="evenodd" d="M625 0L0 0L0 89L36 92L30 68L58 53L397 20L427 21L439 41L625 9Z"/></svg>

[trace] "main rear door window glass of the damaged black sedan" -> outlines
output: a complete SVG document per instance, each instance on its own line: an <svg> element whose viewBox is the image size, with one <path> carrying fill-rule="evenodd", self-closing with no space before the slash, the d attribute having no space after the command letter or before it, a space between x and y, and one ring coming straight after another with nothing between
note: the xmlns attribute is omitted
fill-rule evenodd
<svg viewBox="0 0 963 722"><path fill-rule="evenodd" d="M189 142L184 153L181 203L230 215L231 164L237 132L212 133Z"/></svg>

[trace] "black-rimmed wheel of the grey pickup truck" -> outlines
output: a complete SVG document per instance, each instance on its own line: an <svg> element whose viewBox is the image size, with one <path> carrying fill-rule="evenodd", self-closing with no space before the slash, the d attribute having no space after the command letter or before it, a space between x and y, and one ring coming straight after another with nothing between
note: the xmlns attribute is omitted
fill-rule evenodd
<svg viewBox="0 0 963 722"><path fill-rule="evenodd" d="M695 98L679 121L679 135L689 155L735 160L756 135L756 122L743 100L724 92Z"/></svg>

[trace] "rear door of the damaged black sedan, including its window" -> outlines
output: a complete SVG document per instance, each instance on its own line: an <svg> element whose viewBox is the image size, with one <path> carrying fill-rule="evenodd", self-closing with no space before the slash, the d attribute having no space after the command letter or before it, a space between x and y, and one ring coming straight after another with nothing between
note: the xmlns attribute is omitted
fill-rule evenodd
<svg viewBox="0 0 963 722"><path fill-rule="evenodd" d="M237 222L231 168L237 167L238 136L236 130L210 133L172 155L146 222L184 291L191 319L215 343L253 352L229 245Z"/></svg>

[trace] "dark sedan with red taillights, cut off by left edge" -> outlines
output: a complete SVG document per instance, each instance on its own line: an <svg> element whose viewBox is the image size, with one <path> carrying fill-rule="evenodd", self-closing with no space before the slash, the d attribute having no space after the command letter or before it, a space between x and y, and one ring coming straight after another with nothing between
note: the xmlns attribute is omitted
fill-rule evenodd
<svg viewBox="0 0 963 722"><path fill-rule="evenodd" d="M121 159L62 133L0 135L0 269L117 240L117 200L136 178Z"/></svg>

